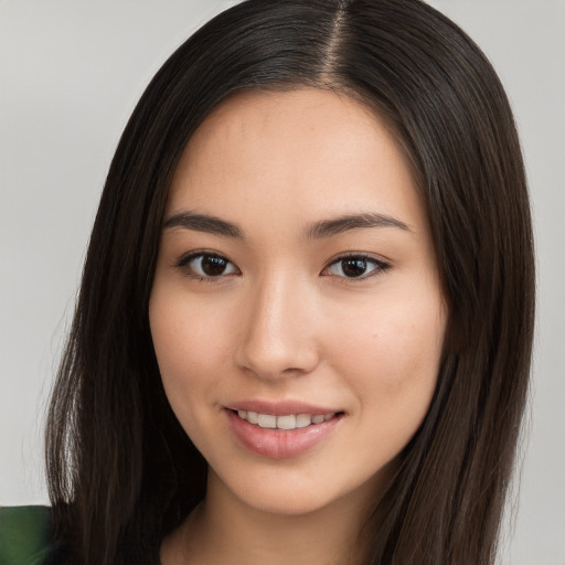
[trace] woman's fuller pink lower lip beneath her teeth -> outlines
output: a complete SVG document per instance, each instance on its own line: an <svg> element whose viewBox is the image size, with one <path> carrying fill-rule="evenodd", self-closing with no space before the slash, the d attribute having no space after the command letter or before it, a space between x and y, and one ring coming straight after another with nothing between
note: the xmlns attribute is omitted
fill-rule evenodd
<svg viewBox="0 0 565 565"><path fill-rule="evenodd" d="M337 415L327 422L311 424L305 428L273 429L249 424L233 411L225 412L231 428L243 447L252 454L270 459L288 459L305 454L327 438L341 419L341 415Z"/></svg>

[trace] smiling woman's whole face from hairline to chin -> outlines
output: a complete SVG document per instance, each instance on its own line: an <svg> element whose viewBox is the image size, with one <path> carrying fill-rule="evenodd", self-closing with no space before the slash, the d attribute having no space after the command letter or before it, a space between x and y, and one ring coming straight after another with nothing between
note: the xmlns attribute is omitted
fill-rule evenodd
<svg viewBox="0 0 565 565"><path fill-rule="evenodd" d="M374 498L426 415L446 321L386 125L312 88L223 103L175 171L149 313L209 489L291 514Z"/></svg>

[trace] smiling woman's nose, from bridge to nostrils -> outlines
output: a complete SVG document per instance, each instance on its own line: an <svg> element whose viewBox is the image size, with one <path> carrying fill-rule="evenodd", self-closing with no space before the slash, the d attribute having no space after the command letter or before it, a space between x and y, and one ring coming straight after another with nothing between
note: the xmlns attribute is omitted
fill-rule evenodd
<svg viewBox="0 0 565 565"><path fill-rule="evenodd" d="M236 362L260 379L306 374L320 362L313 297L291 278L265 281L247 305Z"/></svg>

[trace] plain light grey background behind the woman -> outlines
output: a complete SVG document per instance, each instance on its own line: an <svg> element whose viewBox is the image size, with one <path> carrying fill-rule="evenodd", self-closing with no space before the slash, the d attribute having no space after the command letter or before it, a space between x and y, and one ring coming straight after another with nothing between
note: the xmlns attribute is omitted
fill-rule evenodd
<svg viewBox="0 0 565 565"><path fill-rule="evenodd" d="M126 120L220 0L0 0L0 503L47 502L45 398ZM539 318L521 489L501 563L565 565L565 1L430 0L483 47L531 184ZM512 532L514 535L512 536Z"/></svg>

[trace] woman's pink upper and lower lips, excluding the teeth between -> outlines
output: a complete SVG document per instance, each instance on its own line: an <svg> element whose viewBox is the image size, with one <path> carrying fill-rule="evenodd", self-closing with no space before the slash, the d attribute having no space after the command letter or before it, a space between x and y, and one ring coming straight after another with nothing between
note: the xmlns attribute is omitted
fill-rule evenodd
<svg viewBox="0 0 565 565"><path fill-rule="evenodd" d="M273 405L255 401L237 403L236 405L231 405L230 408L224 408L230 428L239 445L254 455L270 459L290 459L306 454L320 441L331 436L343 417L343 412L338 411L335 416L321 424L311 424L305 428L296 429L271 429L249 424L234 412L237 409L271 414L274 416L286 414L321 415L337 411L309 406L302 403L278 403Z"/></svg>

